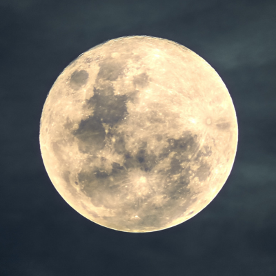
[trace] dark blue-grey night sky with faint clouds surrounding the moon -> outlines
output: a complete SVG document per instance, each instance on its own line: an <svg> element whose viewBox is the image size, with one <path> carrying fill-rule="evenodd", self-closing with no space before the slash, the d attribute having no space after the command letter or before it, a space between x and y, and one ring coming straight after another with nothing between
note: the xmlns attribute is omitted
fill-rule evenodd
<svg viewBox="0 0 276 276"><path fill-rule="evenodd" d="M233 99L239 144L215 199L154 233L99 226L57 193L39 120L68 64L103 41L170 39ZM276 1L0 0L0 275L276 275Z"/></svg>

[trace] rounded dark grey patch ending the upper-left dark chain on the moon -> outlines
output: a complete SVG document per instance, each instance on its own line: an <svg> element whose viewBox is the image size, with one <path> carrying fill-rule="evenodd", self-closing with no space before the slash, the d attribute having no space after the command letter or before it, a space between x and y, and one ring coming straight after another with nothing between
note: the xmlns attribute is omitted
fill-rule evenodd
<svg viewBox="0 0 276 276"><path fill-rule="evenodd" d="M79 151L93 153L105 145L106 131L97 117L81 120L79 128L72 132L79 139Z"/></svg>

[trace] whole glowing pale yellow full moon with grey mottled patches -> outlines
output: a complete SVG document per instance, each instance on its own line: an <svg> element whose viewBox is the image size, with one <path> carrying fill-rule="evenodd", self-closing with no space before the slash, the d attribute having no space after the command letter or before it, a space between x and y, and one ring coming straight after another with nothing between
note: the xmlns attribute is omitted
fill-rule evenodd
<svg viewBox="0 0 276 276"><path fill-rule="evenodd" d="M101 226L181 224L219 193L237 150L233 101L217 72L167 39L113 39L55 81L40 126L43 162L72 208Z"/></svg>

